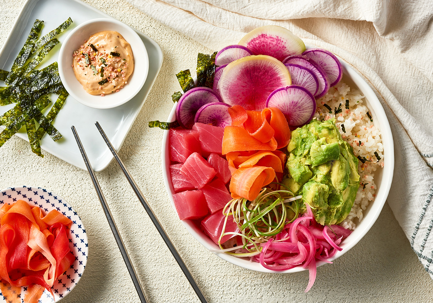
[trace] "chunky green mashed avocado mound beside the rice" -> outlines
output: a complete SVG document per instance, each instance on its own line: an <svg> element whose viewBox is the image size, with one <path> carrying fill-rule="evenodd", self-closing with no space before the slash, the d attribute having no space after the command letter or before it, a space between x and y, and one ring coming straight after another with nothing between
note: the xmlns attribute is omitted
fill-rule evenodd
<svg viewBox="0 0 433 303"><path fill-rule="evenodd" d="M335 119L312 120L295 129L287 150L288 174L282 183L294 194L302 194L320 224L342 222L358 191L358 159L341 138Z"/></svg>

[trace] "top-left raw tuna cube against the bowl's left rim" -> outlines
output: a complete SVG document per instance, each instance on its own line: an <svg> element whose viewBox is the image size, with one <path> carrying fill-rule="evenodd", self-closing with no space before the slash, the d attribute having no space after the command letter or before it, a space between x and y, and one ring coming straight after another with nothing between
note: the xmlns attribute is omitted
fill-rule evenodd
<svg viewBox="0 0 433 303"><path fill-rule="evenodd" d="M193 152L201 153L199 133L192 129L170 129L168 133L170 160L184 163Z"/></svg>

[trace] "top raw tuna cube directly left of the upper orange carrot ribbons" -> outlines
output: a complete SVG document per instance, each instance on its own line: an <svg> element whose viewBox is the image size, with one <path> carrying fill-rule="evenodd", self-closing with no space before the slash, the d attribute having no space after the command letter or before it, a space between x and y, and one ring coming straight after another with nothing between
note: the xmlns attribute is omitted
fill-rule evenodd
<svg viewBox="0 0 433 303"><path fill-rule="evenodd" d="M207 158L211 152L216 152L219 155L222 154L224 135L222 127L196 122L192 129L199 132L201 154L203 157Z"/></svg>

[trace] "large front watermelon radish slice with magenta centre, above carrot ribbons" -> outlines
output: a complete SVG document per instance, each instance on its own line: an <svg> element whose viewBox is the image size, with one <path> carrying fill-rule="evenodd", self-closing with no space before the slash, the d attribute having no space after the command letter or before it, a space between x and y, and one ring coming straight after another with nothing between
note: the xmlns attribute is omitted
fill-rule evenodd
<svg viewBox="0 0 433 303"><path fill-rule="evenodd" d="M269 94L290 85L288 69L267 55L248 56L229 63L218 81L221 98L246 110L263 110Z"/></svg>

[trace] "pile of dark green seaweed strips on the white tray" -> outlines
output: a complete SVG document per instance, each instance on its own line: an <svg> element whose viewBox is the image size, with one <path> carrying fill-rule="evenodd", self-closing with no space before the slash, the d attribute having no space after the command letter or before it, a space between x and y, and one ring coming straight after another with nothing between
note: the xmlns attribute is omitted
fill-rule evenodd
<svg viewBox="0 0 433 303"><path fill-rule="evenodd" d="M71 23L72 19L68 18L58 28L38 39L43 21L36 20L11 70L0 70L0 80L6 84L0 87L0 105L16 103L15 107L0 116L0 125L6 126L0 133L0 147L23 126L26 126L32 152L41 157L39 141L45 132L54 141L61 139L62 135L51 123L65 103L68 92L61 83L57 62L41 70L36 67L58 44L55 37ZM39 53L36 54L37 51ZM51 103L49 93L57 94L58 98L44 116L41 111ZM39 127L36 127L35 121Z"/></svg>

